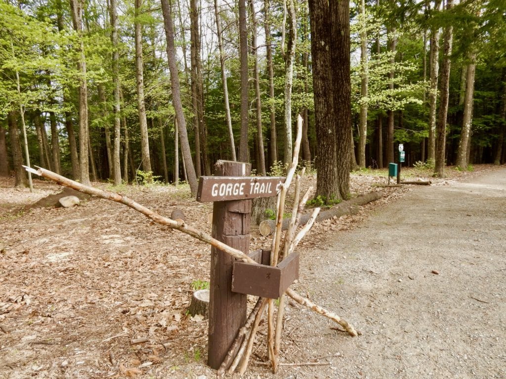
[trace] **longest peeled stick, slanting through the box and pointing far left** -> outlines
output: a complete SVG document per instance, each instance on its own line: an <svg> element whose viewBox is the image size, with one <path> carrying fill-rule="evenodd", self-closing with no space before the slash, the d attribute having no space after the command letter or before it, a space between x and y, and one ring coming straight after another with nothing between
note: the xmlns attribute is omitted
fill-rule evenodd
<svg viewBox="0 0 506 379"><path fill-rule="evenodd" d="M130 208L135 209L136 211L142 213L143 215L145 215L146 217L148 217L149 219L153 220L154 222L156 222L158 224L165 225L165 226L168 226L168 227L176 229L176 230L180 230L183 233L191 235L192 237L196 238L197 240L200 240L200 241L205 242L211 246L214 246L217 249L220 249L221 251L223 251L227 254L230 254L232 257L240 259L243 262L258 264L253 259L251 259L246 254L244 254L242 251L231 248L230 246L224 244L223 242L214 239L209 234L204 233L203 231L198 230L192 226L186 225L185 223L176 222L168 217L160 216L159 214L153 212L151 209L149 209L143 205L140 205L139 203L136 203L135 201L127 198L126 196L115 194L115 193L109 192L109 191L102 191L102 189L98 189L98 188L90 187L88 185L81 184L77 181L74 181L74 180L68 179L64 176L58 175L57 173L55 173L53 171L46 170L45 168L39 167L37 170L35 170L31 167L27 167L27 166L23 166L23 167L27 171L30 171L33 174L44 176L45 178L56 181L60 185L64 185L66 187L76 189L77 191L80 191L80 192L88 194L88 195L97 196L101 199L112 200L117 203L121 203L126 206L129 206ZM344 326L340 322L345 322L346 325L349 325L348 322L346 322L345 320L342 320L339 316L335 315L334 313L328 312L325 309L315 305L314 303L312 303L308 299L305 299L302 296L300 296L297 292L295 292L291 289L288 289L288 290L286 290L286 293L288 296L290 296L293 300L297 301L299 304L304 305L305 307L315 311L316 313L319 313L325 317L328 317L328 318L334 320L335 322L339 323L343 327L346 328L346 326ZM349 325L349 327L351 328L351 330L355 330L355 329L353 329L353 326ZM348 333L350 333L350 332L348 332ZM356 332L355 332L355 334L350 333L350 335L356 336Z"/></svg>

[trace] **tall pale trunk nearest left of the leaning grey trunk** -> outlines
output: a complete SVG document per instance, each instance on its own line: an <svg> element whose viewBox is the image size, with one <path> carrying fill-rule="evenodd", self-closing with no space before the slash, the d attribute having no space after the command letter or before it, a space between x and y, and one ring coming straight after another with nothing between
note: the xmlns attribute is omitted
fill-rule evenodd
<svg viewBox="0 0 506 379"><path fill-rule="evenodd" d="M148 122L146 120L146 104L144 103L144 73L142 58L142 25L139 19L142 0L135 0L135 71L137 79L137 109L141 128L142 169L151 172L149 157Z"/></svg>

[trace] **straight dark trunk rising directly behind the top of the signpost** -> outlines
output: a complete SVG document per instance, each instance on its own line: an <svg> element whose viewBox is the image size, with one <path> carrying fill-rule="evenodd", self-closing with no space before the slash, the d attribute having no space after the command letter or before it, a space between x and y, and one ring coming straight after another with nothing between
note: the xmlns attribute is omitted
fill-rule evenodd
<svg viewBox="0 0 506 379"><path fill-rule="evenodd" d="M248 162L248 36L246 24L246 0L239 0L239 61L241 71L241 136L239 161Z"/></svg>

